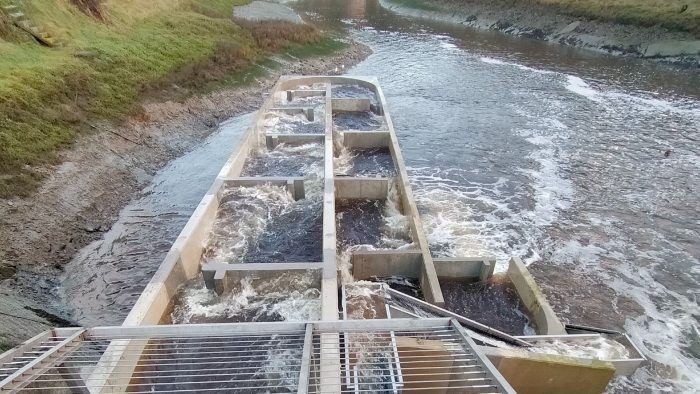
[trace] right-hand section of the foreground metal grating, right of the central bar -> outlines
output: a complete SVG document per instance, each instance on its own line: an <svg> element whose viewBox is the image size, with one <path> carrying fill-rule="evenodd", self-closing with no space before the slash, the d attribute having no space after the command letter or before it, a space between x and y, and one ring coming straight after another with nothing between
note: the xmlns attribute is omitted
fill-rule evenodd
<svg viewBox="0 0 700 394"><path fill-rule="evenodd" d="M311 392L500 393L503 387L482 358L450 323L393 330L353 327L337 336L340 385L319 377L328 334L313 339ZM333 388L333 390L329 390Z"/></svg>

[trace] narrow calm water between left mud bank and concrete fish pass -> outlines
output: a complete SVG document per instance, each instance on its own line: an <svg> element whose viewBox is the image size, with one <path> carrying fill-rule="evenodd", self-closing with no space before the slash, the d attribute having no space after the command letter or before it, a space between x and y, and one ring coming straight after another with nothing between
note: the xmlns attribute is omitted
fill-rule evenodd
<svg viewBox="0 0 700 394"><path fill-rule="evenodd" d="M201 146L159 171L103 239L83 248L66 265L59 308L85 326L121 324L253 115L223 123Z"/></svg>

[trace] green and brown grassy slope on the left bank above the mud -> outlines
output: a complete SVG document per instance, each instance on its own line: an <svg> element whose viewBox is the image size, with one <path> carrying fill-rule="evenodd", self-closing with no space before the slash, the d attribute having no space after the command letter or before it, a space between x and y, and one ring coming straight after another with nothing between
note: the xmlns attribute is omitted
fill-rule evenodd
<svg viewBox="0 0 700 394"><path fill-rule="evenodd" d="M62 44L43 47L2 15L0 197L31 194L61 149L144 98L241 84L271 53L340 45L310 26L233 21L248 1L15 0Z"/></svg>

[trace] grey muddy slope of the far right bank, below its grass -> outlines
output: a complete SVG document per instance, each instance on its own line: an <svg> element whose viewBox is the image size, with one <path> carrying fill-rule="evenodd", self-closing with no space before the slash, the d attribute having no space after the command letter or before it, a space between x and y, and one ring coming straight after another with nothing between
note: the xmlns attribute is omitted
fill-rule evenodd
<svg viewBox="0 0 700 394"><path fill-rule="evenodd" d="M418 3L431 9L412 8L391 0L379 2L384 8L406 16L496 30L612 55L700 67L700 39L691 33L670 31L659 26L641 27L589 20L562 15L536 4L514 6L505 1L455 3L431 0Z"/></svg>

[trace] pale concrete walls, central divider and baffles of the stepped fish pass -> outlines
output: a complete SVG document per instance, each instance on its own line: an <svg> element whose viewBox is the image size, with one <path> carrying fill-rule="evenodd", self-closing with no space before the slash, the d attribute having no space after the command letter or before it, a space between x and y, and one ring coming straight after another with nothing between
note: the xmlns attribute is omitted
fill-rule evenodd
<svg viewBox="0 0 700 394"><path fill-rule="evenodd" d="M368 89L375 95L373 104L369 98L334 98L333 85L353 85ZM313 87L300 89L300 87ZM324 103L323 124L325 133L313 134L271 134L265 132L265 118L270 111L288 111L301 113L308 121L314 118L308 116L313 111L309 107L297 104L295 99L322 97ZM290 100L291 99L291 100ZM279 108L286 103L293 104L287 108ZM413 192L408 180L398 140L390 115L384 110L386 106L384 93L373 78L345 77L283 77L274 87L270 98L260 109L253 127L242 139L240 147L231 156L219 173L209 192L202 199L196 211L186 224L180 236L173 244L163 264L153 279L139 297L131 313L124 321L125 325L158 324L170 311L171 301L177 287L187 280L193 279L203 270L211 288L223 289L225 282L231 278L240 278L249 273L276 275L288 269L320 271L321 315L323 320L338 319L338 267L336 264L336 211L335 204L340 199L386 199L389 183L398 186L402 213L406 216L411 238L415 249L384 251L386 258L372 261L371 264L359 263L362 267L362 277L384 275L391 272L410 271L419 279L426 299L436 305L444 303L440 291L437 272L433 258L428 249L423 226L418 215L418 209L413 199ZM371 108L372 107L372 108ZM330 110L329 110L330 109ZM337 134L333 130L333 114L338 112L366 113L374 109L375 114L383 117L383 130L348 130L344 132L342 142L336 141ZM252 184L280 184L293 190L296 196L303 198L303 180L295 177L268 178L245 177L240 174L246 159L260 149L274 148L280 143L303 144L323 138L324 173L323 173L323 261L295 262L294 266L273 265L261 267L259 264L245 266L237 264L218 264L201 266L201 256L207 234L216 218L223 190L228 186ZM334 147L339 143L347 148L388 148L396 176L388 178L370 177L336 177L334 173ZM416 264L417 263L417 264ZM417 268L417 269L416 269Z"/></svg>

